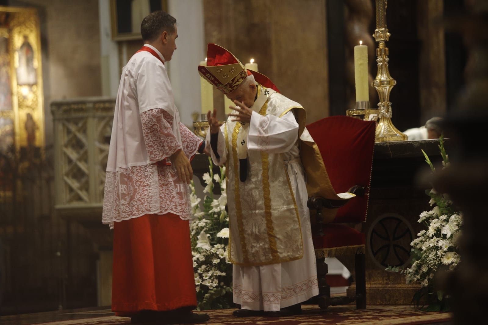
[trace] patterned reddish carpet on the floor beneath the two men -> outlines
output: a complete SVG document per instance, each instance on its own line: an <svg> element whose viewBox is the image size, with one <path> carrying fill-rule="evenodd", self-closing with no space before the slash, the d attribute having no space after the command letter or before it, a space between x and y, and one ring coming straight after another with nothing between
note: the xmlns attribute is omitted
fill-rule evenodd
<svg viewBox="0 0 488 325"><path fill-rule="evenodd" d="M412 306L368 306L356 310L355 305L332 306L321 313L314 305L305 305L303 314L294 317L269 318L232 316L234 309L206 311L210 321L205 324L215 325L251 325L251 324L340 324L340 325L404 325L404 324L449 324L449 313L423 312ZM12 315L0 317L0 324L57 324L57 325L118 325L130 324L130 319L117 317L108 309L60 311L50 313Z"/></svg>

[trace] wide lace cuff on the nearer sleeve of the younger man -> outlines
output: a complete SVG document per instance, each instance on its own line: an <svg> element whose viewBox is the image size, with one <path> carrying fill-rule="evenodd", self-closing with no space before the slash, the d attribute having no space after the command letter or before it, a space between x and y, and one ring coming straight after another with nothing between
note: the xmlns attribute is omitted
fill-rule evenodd
<svg viewBox="0 0 488 325"><path fill-rule="evenodd" d="M141 113L141 122L144 143L151 163L162 161L178 149L182 149L171 131L173 117L165 110L147 110Z"/></svg>

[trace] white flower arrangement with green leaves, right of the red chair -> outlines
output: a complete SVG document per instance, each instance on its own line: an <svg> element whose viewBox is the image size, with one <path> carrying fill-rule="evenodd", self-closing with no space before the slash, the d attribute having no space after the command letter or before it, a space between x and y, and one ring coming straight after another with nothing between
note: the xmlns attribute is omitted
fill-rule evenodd
<svg viewBox="0 0 488 325"><path fill-rule="evenodd" d="M448 168L449 157L444 149L444 137L441 135L439 149L443 159L443 168ZM435 167L422 150L426 162L432 172ZM413 303L419 305L422 297L427 295L429 311L446 311L449 309L444 292L437 291L434 294L433 278L437 270L447 268L453 270L460 262L458 242L463 225L462 214L456 211L446 194L439 194L435 189L426 190L430 197L429 204L433 206L430 211L420 214L419 223L426 229L417 234L417 238L411 242L410 256L411 266L403 269L398 266L389 266L386 270L405 273L407 283L417 282L421 289L413 297Z"/></svg>

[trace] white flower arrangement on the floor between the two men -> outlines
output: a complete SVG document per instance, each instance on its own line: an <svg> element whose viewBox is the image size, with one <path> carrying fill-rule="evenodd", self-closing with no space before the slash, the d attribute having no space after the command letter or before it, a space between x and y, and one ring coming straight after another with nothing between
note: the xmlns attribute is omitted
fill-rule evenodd
<svg viewBox="0 0 488 325"><path fill-rule="evenodd" d="M195 184L190 184L191 207L195 216L190 221L190 236L199 310L230 308L232 303L232 264L227 257L229 218L225 211L225 167L220 167L219 176L213 173L211 158L209 163L209 172L203 175L206 183L203 211ZM218 199L213 194L216 183L222 190Z"/></svg>

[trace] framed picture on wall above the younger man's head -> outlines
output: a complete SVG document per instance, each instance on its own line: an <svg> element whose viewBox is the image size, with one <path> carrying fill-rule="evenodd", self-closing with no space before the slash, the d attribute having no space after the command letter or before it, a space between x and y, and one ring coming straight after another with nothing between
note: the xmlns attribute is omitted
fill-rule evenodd
<svg viewBox="0 0 488 325"><path fill-rule="evenodd" d="M112 39L141 40L141 22L151 12L168 11L167 0L110 0Z"/></svg>

